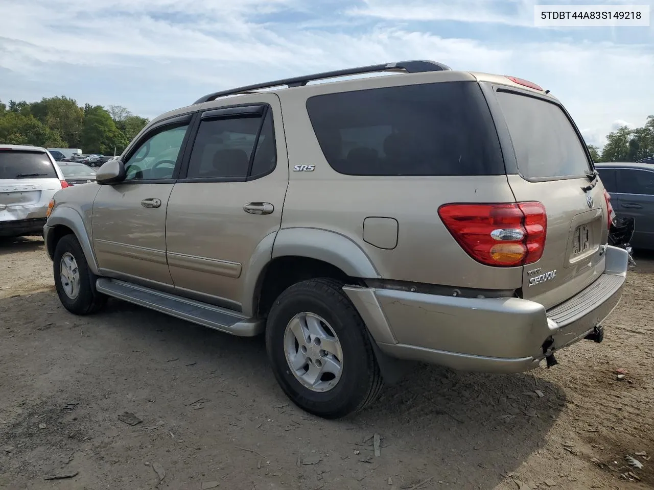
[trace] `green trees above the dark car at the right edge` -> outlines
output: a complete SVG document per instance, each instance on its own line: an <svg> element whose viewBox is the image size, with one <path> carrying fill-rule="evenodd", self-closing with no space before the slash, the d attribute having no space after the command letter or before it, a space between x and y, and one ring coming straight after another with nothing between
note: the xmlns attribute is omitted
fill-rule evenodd
<svg viewBox="0 0 654 490"><path fill-rule="evenodd" d="M619 128L606 137L602 151L592 144L588 145L593 161L638 161L654 156L654 116L647 116L647 122L642 127L629 129Z"/></svg>

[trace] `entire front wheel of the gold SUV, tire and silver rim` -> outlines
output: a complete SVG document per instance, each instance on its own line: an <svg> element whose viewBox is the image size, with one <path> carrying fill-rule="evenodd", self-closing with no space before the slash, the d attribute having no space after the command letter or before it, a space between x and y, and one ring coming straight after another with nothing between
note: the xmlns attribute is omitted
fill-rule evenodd
<svg viewBox="0 0 654 490"><path fill-rule="evenodd" d="M97 292L97 276L88 268L86 257L75 235L65 235L57 243L52 257L54 286L69 312L77 315L94 313L107 302L107 297Z"/></svg>

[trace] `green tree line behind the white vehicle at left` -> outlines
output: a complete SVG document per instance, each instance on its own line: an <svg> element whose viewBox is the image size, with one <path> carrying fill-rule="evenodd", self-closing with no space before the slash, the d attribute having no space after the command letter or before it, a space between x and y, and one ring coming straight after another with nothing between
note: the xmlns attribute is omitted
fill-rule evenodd
<svg viewBox="0 0 654 490"><path fill-rule="evenodd" d="M81 148L86 154L122 153L148 123L123 106L84 104L68 97L40 102L0 101L0 143Z"/></svg>

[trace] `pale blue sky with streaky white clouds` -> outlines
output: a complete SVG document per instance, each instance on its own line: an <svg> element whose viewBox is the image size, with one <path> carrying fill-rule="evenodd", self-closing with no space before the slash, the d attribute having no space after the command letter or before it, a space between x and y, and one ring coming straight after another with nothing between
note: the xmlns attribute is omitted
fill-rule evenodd
<svg viewBox="0 0 654 490"><path fill-rule="evenodd" d="M0 100L153 117L210 91L434 59L548 88L587 141L654 114L650 27L534 27L536 3L654 0L0 0Z"/></svg>

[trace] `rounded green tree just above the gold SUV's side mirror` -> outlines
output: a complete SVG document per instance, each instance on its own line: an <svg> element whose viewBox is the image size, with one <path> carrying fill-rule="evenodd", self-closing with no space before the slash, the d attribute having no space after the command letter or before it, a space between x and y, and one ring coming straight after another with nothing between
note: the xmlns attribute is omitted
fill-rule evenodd
<svg viewBox="0 0 654 490"><path fill-rule="evenodd" d="M127 146L125 135L116 127L111 115L103 106L84 107L82 148L88 153L112 155L114 147L122 150Z"/></svg>

